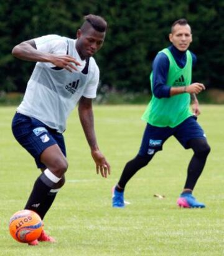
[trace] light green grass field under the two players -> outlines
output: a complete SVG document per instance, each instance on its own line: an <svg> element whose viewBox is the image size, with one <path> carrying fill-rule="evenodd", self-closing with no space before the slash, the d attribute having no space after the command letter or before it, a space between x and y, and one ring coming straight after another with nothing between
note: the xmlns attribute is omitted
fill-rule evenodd
<svg viewBox="0 0 224 256"><path fill-rule="evenodd" d="M125 209L111 207L111 187L124 164L138 152L144 109L95 106L98 144L112 169L108 179L95 174L77 110L73 112L65 132L67 183L45 217L45 230L57 243L29 247L11 238L8 222L24 207L39 170L11 133L15 107L0 108L0 255L224 255L224 106L201 106L198 118L212 152L194 195L207 208L176 206L192 152L173 138L129 182L125 195L131 204ZM166 198L160 200L154 194Z"/></svg>

